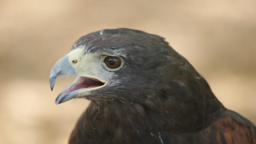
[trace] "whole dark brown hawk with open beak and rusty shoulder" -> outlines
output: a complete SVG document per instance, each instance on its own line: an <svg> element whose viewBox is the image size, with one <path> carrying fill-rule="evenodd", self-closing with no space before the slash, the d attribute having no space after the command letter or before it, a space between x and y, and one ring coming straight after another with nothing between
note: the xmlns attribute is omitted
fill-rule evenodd
<svg viewBox="0 0 256 144"><path fill-rule="evenodd" d="M57 62L51 88L64 74L100 77L104 82L94 82L101 87L90 92L67 88L57 97L57 104L77 97L91 100L69 144L256 144L255 126L225 108L164 38L126 28L105 29L81 37L72 50L79 48L83 55L72 55L79 58L79 69L73 63L64 71L67 57ZM95 59L89 60L92 55ZM120 68L106 68L102 55L120 60L122 64L116 65ZM91 71L91 65L86 69L95 61L99 65L93 67L98 69Z"/></svg>

